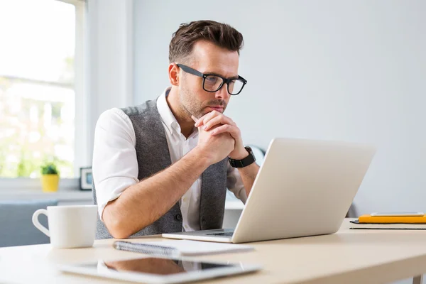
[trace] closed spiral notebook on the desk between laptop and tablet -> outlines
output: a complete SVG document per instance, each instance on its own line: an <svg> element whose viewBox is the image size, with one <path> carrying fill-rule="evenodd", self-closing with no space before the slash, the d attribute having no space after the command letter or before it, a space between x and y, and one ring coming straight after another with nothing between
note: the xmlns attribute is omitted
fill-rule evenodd
<svg viewBox="0 0 426 284"><path fill-rule="evenodd" d="M160 256L202 256L214 253L234 253L251 251L253 246L242 244L222 244L207 241L146 241L132 243L129 241L114 241L115 249L133 251L136 253L155 254Z"/></svg>

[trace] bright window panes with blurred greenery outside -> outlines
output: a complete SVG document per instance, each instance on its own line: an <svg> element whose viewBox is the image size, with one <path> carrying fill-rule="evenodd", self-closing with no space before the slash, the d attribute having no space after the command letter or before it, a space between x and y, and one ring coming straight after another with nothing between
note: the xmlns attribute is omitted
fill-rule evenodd
<svg viewBox="0 0 426 284"><path fill-rule="evenodd" d="M0 2L0 178L74 178L84 1Z"/></svg>

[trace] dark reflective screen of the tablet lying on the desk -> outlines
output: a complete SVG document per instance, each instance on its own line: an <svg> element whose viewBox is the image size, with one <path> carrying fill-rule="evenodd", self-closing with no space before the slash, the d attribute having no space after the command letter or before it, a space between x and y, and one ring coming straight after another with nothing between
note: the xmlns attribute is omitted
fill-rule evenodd
<svg viewBox="0 0 426 284"><path fill-rule="evenodd" d="M121 271L133 273L149 273L155 275L171 275L176 273L187 273L194 271L206 271L214 268L235 267L228 264L204 263L197 261L182 261L168 258L136 258L121 261L103 261L104 271ZM88 263L80 265L84 268L98 268L99 263Z"/></svg>

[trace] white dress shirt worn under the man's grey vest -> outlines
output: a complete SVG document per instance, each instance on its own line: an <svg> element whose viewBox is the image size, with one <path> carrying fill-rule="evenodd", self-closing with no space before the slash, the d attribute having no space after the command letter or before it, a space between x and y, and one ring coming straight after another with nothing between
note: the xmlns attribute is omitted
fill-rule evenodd
<svg viewBox="0 0 426 284"><path fill-rule="evenodd" d="M178 121L165 99L170 88L158 97L157 108L165 129L172 164L190 152L198 142L198 131L185 138ZM92 171L96 187L98 212L102 219L104 207L118 198L126 188L139 182L136 158L136 136L129 116L121 109L104 111L97 121L94 133ZM226 186L242 202L246 202L246 190L236 168L228 163ZM201 176L180 200L182 231L200 230Z"/></svg>

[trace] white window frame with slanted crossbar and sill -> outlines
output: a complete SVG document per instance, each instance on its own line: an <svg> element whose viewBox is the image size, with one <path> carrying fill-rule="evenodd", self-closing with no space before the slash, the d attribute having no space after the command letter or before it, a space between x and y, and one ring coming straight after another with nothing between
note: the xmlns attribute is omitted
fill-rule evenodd
<svg viewBox="0 0 426 284"><path fill-rule="evenodd" d="M80 175L80 167L91 164L89 157L89 126L84 121L89 117L89 98L84 94L87 92L85 86L85 76L87 75L85 65L87 62L87 48L85 45L86 35L84 28L87 18L87 3L84 0L55 0L75 6L75 79L74 85L59 82L45 82L40 80L31 80L21 77L6 77L9 80L18 80L20 82L33 82L36 84L47 84L50 86L73 88L75 91L75 160L74 173L75 176ZM77 110L81 110L77 112ZM78 114L78 115L77 115ZM78 135L77 135L78 134ZM10 193L18 191L40 190L39 178L1 178L0 192ZM76 190L80 188L80 178L60 178L60 190Z"/></svg>

